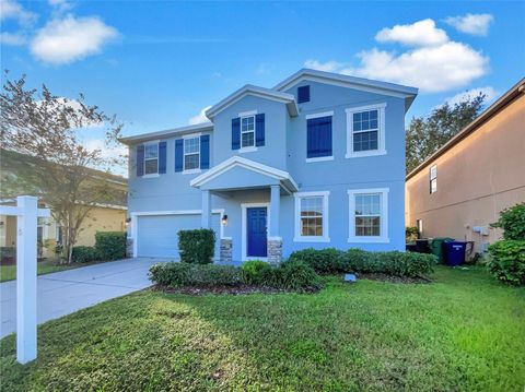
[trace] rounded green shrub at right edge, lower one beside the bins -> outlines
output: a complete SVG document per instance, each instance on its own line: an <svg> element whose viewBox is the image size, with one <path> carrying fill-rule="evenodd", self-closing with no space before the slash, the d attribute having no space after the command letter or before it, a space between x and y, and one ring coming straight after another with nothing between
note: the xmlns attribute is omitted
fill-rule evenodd
<svg viewBox="0 0 525 392"><path fill-rule="evenodd" d="M498 280L512 284L525 284L525 241L502 240L489 247L489 271Z"/></svg>

